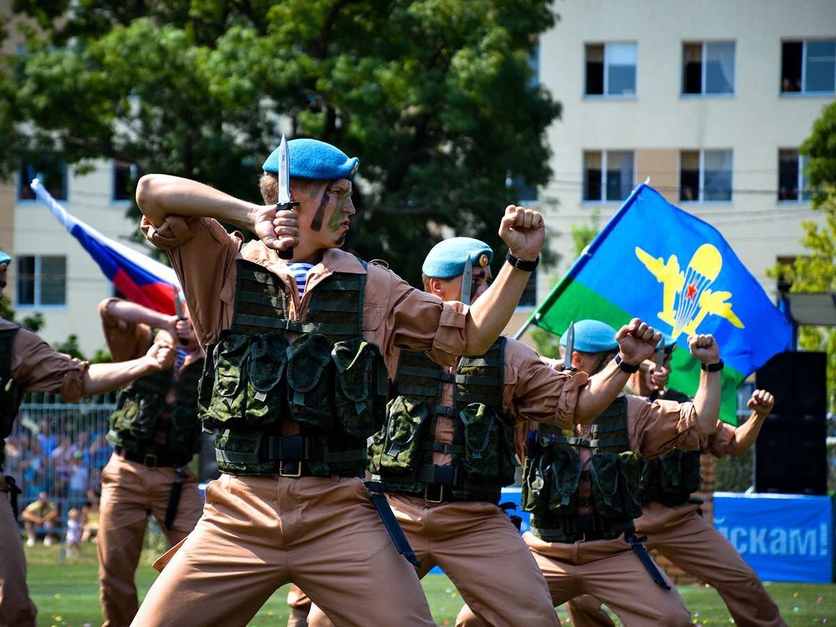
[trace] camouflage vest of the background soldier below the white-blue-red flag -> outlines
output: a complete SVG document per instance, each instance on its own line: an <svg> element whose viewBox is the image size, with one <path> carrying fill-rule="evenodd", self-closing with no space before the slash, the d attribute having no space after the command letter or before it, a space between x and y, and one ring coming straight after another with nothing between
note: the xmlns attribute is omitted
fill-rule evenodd
<svg viewBox="0 0 836 627"><path fill-rule="evenodd" d="M203 359L196 359L177 380L174 368L134 380L116 400L107 439L135 455L155 455L160 466L188 463L200 451L197 386L202 370ZM172 387L175 400L169 403L166 396ZM168 424L161 424L166 416Z"/></svg>

